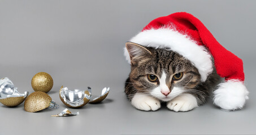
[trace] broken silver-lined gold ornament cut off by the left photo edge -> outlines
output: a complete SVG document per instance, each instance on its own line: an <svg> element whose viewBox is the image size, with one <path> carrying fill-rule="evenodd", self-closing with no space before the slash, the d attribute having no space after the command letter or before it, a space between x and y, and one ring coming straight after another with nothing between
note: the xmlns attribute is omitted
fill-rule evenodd
<svg viewBox="0 0 256 135"><path fill-rule="evenodd" d="M18 88L8 78L0 79L0 102L3 105L14 107L20 105L28 96L28 91L21 94Z"/></svg>

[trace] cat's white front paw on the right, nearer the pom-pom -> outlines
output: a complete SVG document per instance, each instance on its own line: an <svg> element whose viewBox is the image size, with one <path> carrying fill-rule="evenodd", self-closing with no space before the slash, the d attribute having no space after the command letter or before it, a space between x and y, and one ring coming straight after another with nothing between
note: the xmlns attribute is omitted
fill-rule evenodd
<svg viewBox="0 0 256 135"><path fill-rule="evenodd" d="M173 111L189 111L198 107L197 99L193 95L183 94L178 97L173 98L173 100L167 103L167 107Z"/></svg>

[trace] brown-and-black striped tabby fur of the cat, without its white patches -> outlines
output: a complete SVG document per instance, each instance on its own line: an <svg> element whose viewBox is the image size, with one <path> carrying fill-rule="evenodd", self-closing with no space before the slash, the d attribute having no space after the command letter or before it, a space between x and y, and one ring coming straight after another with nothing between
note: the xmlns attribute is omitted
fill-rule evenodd
<svg viewBox="0 0 256 135"><path fill-rule="evenodd" d="M125 82L125 93L130 101L136 93L158 98L150 93L159 86L159 83L149 82L147 74L155 74L160 78L164 71L166 86L170 91L176 87L181 89L180 93L193 95L197 99L198 106L205 104L210 90L220 80L213 71L206 81L202 82L201 75L192 62L168 48L155 49L135 43L127 43L126 47L131 57L131 73ZM183 78L178 81L172 80L173 75L180 72L184 73ZM158 100L164 101L160 98Z"/></svg>

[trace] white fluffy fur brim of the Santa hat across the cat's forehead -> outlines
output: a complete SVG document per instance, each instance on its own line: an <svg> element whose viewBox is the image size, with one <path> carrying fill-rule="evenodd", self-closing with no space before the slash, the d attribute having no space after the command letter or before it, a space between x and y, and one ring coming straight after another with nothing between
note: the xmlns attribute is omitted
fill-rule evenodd
<svg viewBox="0 0 256 135"><path fill-rule="evenodd" d="M211 55L206 48L198 46L188 35L183 35L175 29L160 28L141 31L131 39L131 42L146 47L170 48L170 50L184 56L196 66L203 82L212 73ZM131 62L126 48L124 48L124 55L128 62Z"/></svg>

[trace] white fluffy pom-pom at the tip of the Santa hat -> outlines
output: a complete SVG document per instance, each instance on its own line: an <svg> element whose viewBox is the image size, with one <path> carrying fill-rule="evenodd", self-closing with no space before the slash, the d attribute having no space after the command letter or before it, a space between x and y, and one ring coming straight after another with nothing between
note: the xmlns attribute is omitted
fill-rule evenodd
<svg viewBox="0 0 256 135"><path fill-rule="evenodd" d="M248 90L239 80L228 80L220 83L214 92L214 104L224 110L242 109L248 100Z"/></svg>

